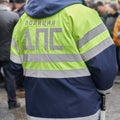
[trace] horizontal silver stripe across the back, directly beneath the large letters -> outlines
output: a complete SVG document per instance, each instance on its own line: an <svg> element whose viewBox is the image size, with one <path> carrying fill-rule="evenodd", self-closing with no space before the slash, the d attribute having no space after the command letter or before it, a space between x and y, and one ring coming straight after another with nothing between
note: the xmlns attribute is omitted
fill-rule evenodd
<svg viewBox="0 0 120 120"><path fill-rule="evenodd" d="M82 61L80 54L25 54L24 62L75 62Z"/></svg>

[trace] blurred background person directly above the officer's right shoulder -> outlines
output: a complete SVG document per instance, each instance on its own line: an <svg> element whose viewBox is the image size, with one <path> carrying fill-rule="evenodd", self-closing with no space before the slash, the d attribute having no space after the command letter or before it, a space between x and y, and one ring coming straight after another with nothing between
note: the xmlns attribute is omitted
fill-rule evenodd
<svg viewBox="0 0 120 120"><path fill-rule="evenodd" d="M96 3L97 5L97 11L102 19L102 21L106 24L106 19L107 19L107 9L106 6L104 5L104 3L102 1L98 1Z"/></svg>

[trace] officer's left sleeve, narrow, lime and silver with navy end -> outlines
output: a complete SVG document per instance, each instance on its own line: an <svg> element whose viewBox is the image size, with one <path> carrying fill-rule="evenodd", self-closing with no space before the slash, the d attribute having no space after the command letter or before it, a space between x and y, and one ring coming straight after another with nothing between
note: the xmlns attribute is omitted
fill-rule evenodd
<svg viewBox="0 0 120 120"><path fill-rule="evenodd" d="M20 41L19 38L19 29L18 25L15 26L13 35L12 35L12 41L11 41L11 51L10 51L10 65L11 70L15 76L23 75L23 69L22 69L22 54L20 53L20 47L18 46L17 40Z"/></svg>

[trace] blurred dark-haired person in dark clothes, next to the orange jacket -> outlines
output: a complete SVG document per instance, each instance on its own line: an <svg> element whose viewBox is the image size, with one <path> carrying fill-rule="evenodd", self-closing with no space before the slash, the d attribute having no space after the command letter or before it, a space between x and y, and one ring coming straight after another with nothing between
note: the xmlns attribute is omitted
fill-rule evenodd
<svg viewBox="0 0 120 120"><path fill-rule="evenodd" d="M111 37L113 38L113 29L114 29L114 25L116 22L116 19L118 18L118 9L117 9L117 5L112 3L109 5L109 9L108 9L108 17L106 19L106 26L109 30L109 33L111 35Z"/></svg>

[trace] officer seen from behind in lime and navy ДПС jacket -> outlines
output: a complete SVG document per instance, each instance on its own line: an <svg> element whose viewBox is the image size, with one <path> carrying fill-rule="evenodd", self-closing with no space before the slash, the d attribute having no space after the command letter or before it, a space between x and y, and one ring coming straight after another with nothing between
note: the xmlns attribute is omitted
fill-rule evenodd
<svg viewBox="0 0 120 120"><path fill-rule="evenodd" d="M117 65L95 10L80 0L28 0L12 38L11 67L24 71L28 120L99 120L100 94L110 92Z"/></svg>

